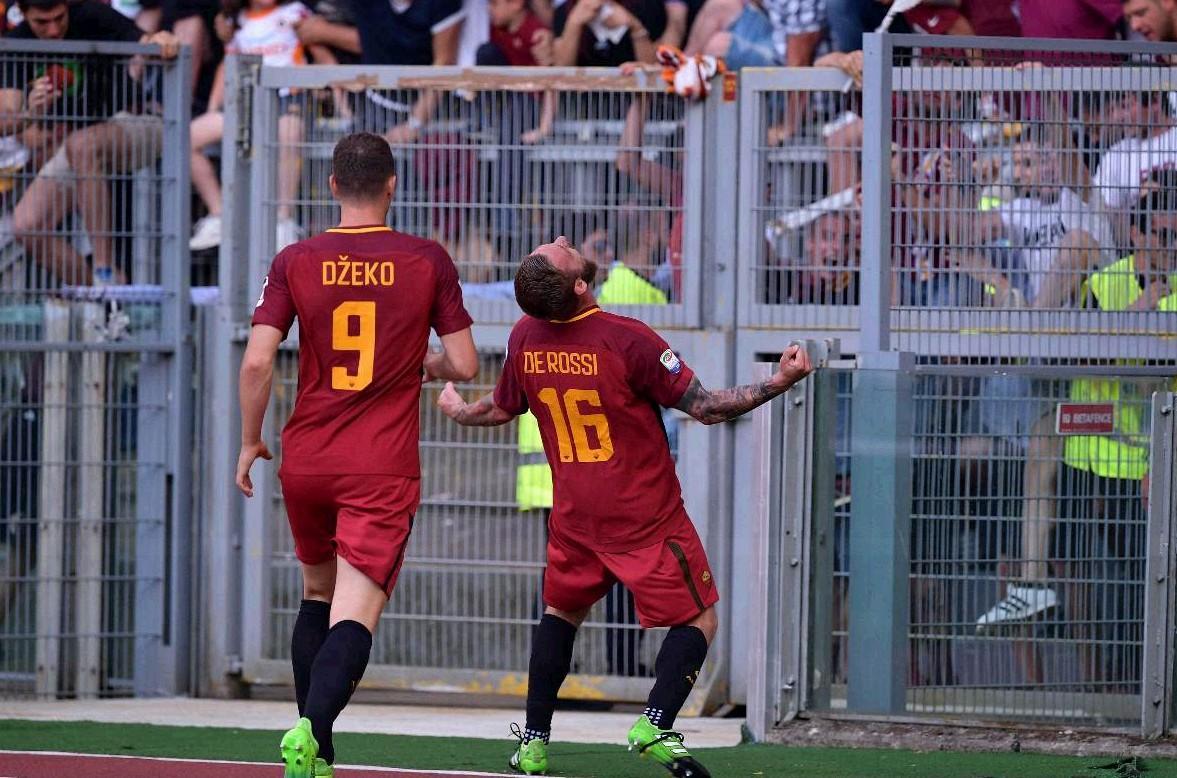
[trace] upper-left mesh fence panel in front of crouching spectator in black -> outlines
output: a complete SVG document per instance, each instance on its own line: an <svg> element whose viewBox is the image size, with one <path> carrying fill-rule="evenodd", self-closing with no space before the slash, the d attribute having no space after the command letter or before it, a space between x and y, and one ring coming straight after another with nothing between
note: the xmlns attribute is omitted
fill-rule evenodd
<svg viewBox="0 0 1177 778"><path fill-rule="evenodd" d="M128 305L95 326L126 345L160 341L180 272L180 214L161 207L178 175L161 160L187 126L172 105L165 117L178 65L153 51L0 47L0 341L39 339L25 325L49 298Z"/></svg>

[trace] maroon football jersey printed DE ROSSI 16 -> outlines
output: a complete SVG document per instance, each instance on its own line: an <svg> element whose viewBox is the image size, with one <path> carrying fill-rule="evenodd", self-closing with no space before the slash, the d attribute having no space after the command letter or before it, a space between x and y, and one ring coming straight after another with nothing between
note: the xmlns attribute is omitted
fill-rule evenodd
<svg viewBox="0 0 1177 778"><path fill-rule="evenodd" d="M552 466L552 531L618 552L658 543L683 510L661 408L694 373L643 322L590 308L511 331L494 403L531 408Z"/></svg>

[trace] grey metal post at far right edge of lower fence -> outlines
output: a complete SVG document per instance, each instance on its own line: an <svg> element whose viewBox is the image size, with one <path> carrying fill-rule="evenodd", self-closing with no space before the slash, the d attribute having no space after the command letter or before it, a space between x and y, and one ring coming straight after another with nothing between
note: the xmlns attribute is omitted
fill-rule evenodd
<svg viewBox="0 0 1177 778"><path fill-rule="evenodd" d="M1177 607L1177 394L1152 395L1152 447L1149 463L1148 552L1144 572L1144 677L1141 730L1146 738L1163 736L1172 722Z"/></svg>

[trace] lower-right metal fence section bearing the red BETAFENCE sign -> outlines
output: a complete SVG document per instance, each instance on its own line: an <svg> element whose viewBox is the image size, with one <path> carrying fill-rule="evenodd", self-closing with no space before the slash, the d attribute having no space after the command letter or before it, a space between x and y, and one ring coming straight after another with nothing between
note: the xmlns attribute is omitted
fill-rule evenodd
<svg viewBox="0 0 1177 778"><path fill-rule="evenodd" d="M770 669L749 681L753 731L810 710L1164 732L1169 385L1058 371L895 379L831 371L740 432L764 465L758 606L779 613L753 640L752 667ZM1096 383L1139 390L1116 413L1141 426L1116 433L1131 447L1105 452L1102 476L1084 454L1111 438L1059 419ZM814 431L832 431L830 445L803 448Z"/></svg>

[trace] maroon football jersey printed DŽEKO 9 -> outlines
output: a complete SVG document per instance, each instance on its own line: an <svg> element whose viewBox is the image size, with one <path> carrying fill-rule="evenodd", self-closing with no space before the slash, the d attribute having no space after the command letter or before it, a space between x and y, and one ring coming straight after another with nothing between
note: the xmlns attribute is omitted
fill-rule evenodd
<svg viewBox="0 0 1177 778"><path fill-rule="evenodd" d="M298 397L282 470L420 478L421 361L430 327L465 330L453 260L387 227L328 230L274 258L253 324L299 321Z"/></svg>

